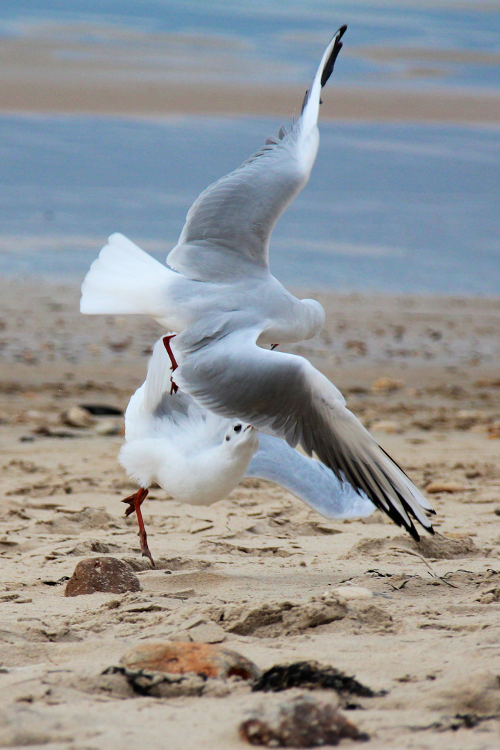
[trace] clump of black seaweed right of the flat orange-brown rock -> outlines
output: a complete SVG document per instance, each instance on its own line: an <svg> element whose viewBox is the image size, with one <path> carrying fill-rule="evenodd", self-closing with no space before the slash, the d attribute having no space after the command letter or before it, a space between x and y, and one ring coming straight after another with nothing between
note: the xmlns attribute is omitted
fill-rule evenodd
<svg viewBox="0 0 500 750"><path fill-rule="evenodd" d="M266 670L253 685L252 690L279 692L290 688L307 688L307 690L331 689L337 694L357 695L358 697L376 697L385 695L385 691L375 692L372 688L358 682L355 677L346 675L335 667L319 664L318 661L293 661L292 664L275 664Z"/></svg>

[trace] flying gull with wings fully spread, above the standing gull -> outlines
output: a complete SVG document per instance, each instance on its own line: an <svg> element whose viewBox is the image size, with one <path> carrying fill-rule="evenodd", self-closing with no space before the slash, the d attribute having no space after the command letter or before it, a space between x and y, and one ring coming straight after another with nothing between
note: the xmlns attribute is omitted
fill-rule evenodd
<svg viewBox="0 0 500 750"><path fill-rule="evenodd" d="M265 349L312 338L322 305L297 299L268 265L271 231L309 178L319 145L321 92L346 31L328 44L301 115L238 169L204 190L163 265L114 234L82 284L84 314L149 314L167 330L172 387L201 407L313 452L339 481L418 540L429 502L307 359ZM177 366L178 365L178 366Z"/></svg>

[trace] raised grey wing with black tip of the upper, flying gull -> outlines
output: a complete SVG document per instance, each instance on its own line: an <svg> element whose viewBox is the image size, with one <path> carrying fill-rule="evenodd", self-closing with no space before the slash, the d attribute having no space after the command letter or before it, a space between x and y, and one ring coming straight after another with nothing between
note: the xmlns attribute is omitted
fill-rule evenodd
<svg viewBox="0 0 500 750"><path fill-rule="evenodd" d="M187 213L178 245L167 257L175 271L198 281L220 281L268 271L274 224L304 187L319 144L320 92L342 47L346 26L329 43L290 133L282 126L238 169L202 192Z"/></svg>

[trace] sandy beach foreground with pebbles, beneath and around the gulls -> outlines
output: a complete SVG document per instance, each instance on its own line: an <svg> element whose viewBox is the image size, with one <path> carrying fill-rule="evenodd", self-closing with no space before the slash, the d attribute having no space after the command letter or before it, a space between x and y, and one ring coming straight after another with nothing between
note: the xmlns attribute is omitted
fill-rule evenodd
<svg viewBox="0 0 500 750"><path fill-rule="evenodd" d="M194 638L199 622L261 668L316 659L387 691L346 711L374 750L499 746L499 299L322 296L325 332L291 349L420 487L441 483L434 538L415 544L379 512L326 520L264 481L206 508L154 489L151 570L120 502L134 488L116 458L121 418L76 428L61 415L123 410L160 329L82 317L74 286L0 290L1 747L247 746L238 724L262 694L133 696L100 676L133 646ZM103 554L133 565L141 590L65 598L57 582ZM353 585L361 598L335 592ZM345 616L313 626L325 601ZM304 616L280 617L286 602Z"/></svg>

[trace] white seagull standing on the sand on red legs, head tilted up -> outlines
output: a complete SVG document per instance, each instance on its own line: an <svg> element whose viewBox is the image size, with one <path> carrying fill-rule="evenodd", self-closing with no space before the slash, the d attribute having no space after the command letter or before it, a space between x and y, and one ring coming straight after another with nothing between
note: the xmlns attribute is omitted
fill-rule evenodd
<svg viewBox="0 0 500 750"><path fill-rule="evenodd" d="M190 505L223 499L247 476L280 484L328 518L364 517L375 510L364 493L284 440L217 416L180 390L172 393L165 338L154 345L145 382L130 398L119 454L127 475L139 484L122 500L125 515L136 512L142 555L153 567L141 505L154 481Z"/></svg>

